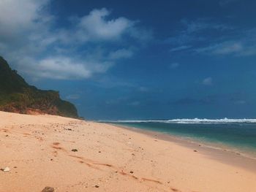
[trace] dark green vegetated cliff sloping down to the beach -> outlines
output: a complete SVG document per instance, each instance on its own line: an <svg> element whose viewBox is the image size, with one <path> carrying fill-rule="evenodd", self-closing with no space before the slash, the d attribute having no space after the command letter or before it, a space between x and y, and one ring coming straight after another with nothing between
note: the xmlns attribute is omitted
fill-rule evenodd
<svg viewBox="0 0 256 192"><path fill-rule="evenodd" d="M42 91L29 85L0 56L0 110L46 113L78 118L75 106L59 97L58 91Z"/></svg>

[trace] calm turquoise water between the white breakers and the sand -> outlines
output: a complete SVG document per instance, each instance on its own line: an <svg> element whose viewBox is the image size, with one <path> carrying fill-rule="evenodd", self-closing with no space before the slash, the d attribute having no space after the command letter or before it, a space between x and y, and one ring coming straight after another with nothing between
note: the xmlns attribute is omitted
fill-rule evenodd
<svg viewBox="0 0 256 192"><path fill-rule="evenodd" d="M252 153L251 155L256 157L256 123L167 123L158 121L115 122L115 124L158 131L197 142L207 142L215 147L231 147L238 152Z"/></svg>

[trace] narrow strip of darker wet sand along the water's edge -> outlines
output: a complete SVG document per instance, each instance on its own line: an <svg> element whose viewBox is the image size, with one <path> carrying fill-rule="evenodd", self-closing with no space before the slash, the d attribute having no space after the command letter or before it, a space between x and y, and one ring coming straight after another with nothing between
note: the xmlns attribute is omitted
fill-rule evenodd
<svg viewBox="0 0 256 192"><path fill-rule="evenodd" d="M132 126L119 126L115 123L110 123L110 125L116 126L118 128L124 128L129 131L135 131L140 134L146 134L147 136L152 137L154 139L162 139L167 142L174 142L177 145L188 147L191 150L197 150L197 153L207 155L208 158L220 161L225 164L233 164L234 166L240 166L241 168L247 169L252 172L256 172L256 158L253 158L244 153L238 153L235 150L228 148L228 146L227 149L222 149L220 147L208 145L208 143L205 142L197 142L196 140L193 139L186 140L182 137L178 137L172 134L165 134L158 131L150 131L141 128L135 128Z"/></svg>

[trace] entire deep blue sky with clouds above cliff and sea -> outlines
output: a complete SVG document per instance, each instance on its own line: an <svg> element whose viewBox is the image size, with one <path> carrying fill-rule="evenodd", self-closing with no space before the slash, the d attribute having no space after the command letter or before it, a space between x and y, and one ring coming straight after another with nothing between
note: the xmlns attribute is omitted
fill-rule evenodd
<svg viewBox="0 0 256 192"><path fill-rule="evenodd" d="M89 120L256 118L254 0L0 0L0 55Z"/></svg>

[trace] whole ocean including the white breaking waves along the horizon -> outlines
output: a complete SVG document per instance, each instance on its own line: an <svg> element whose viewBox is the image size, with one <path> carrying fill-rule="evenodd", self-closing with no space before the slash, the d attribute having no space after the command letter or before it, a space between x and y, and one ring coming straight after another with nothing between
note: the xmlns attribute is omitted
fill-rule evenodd
<svg viewBox="0 0 256 192"><path fill-rule="evenodd" d="M256 119L118 120L105 123L157 131L256 158Z"/></svg>

